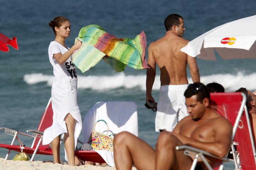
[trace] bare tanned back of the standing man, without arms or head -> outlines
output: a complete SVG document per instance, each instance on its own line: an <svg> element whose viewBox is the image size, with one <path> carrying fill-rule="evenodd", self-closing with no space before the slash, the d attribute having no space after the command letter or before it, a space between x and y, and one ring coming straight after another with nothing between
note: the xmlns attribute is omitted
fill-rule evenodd
<svg viewBox="0 0 256 170"><path fill-rule="evenodd" d="M180 51L187 43L187 40L169 32L163 38L150 44L148 55L153 56L160 68L161 86L188 84L187 54Z"/></svg>

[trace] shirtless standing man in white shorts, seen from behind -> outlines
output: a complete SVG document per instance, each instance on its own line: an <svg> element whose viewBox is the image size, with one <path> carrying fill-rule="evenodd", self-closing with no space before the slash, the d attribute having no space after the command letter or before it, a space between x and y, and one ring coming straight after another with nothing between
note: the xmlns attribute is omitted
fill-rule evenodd
<svg viewBox="0 0 256 170"><path fill-rule="evenodd" d="M172 131L182 118L187 116L184 91L188 86L187 63L193 83L200 82L199 70L194 57L180 51L188 44L181 38L185 31L183 18L177 14L169 15L164 25L166 35L152 42L148 48L148 66L146 80L146 102L155 103L151 95L156 76L156 64L160 68L161 87L155 120L156 131Z"/></svg>

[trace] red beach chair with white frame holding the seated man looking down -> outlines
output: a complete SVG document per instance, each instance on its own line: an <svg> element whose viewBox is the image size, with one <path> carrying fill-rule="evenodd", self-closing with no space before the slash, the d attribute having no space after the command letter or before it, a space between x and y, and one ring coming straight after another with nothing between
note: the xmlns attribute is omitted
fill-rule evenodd
<svg viewBox="0 0 256 170"><path fill-rule="evenodd" d="M234 150L234 146L232 144L232 152L234 160L228 158L218 158L215 155L212 155L208 152L205 152L200 149L196 149L190 146L176 146L177 150L185 149L184 154L188 156L192 156L189 153L194 152L195 159L191 166L191 170L195 169L198 160L202 160L208 169L214 170L223 170L223 163L225 161L234 161L235 168L237 170L252 170L256 169L255 166L255 148L252 138L252 131L250 127L250 121L247 113L247 109L245 106L246 96L243 93L211 93L211 105L214 109L217 110L219 114L226 117L231 124L233 125L233 133L232 140L234 139L237 147L237 151ZM245 108L245 109L244 109ZM219 159L219 162L211 167L209 163L206 161L204 155L212 156L214 158ZM228 153L226 154L226 156ZM237 160L240 161L240 166Z"/></svg>

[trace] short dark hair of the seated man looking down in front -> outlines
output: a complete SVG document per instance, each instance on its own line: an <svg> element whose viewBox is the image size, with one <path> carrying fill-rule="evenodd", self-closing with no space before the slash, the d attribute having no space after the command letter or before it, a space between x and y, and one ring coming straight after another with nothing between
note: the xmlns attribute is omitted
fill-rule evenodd
<svg viewBox="0 0 256 170"><path fill-rule="evenodd" d="M202 83L189 84L188 88L184 92L184 96L189 98L193 95L197 95L197 101L203 103L204 98L208 98L210 101L210 92L206 85Z"/></svg>

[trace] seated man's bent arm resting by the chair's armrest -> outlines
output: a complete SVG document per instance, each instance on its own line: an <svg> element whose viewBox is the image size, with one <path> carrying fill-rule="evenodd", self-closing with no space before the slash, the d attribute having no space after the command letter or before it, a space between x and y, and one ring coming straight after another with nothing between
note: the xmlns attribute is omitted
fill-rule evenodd
<svg viewBox="0 0 256 170"><path fill-rule="evenodd" d="M174 134L184 145L189 145L223 158L226 156L226 153L231 146L232 126L228 120L222 119L215 123L215 127L213 128L215 133L214 142L201 142L177 133L172 134Z"/></svg>

